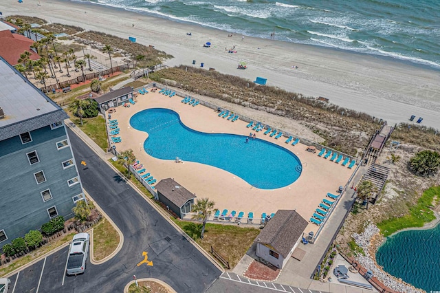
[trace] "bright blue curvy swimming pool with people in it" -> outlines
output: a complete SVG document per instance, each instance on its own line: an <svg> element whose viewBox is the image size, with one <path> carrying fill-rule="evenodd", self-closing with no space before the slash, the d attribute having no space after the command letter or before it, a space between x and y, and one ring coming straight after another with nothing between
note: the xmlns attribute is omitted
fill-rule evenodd
<svg viewBox="0 0 440 293"><path fill-rule="evenodd" d="M275 189L300 177L301 162L287 149L265 140L225 133L203 133L184 125L169 109L146 109L130 119L131 127L145 131L146 153L162 160L208 164L228 171L256 188ZM203 174L200 174L201 176Z"/></svg>

